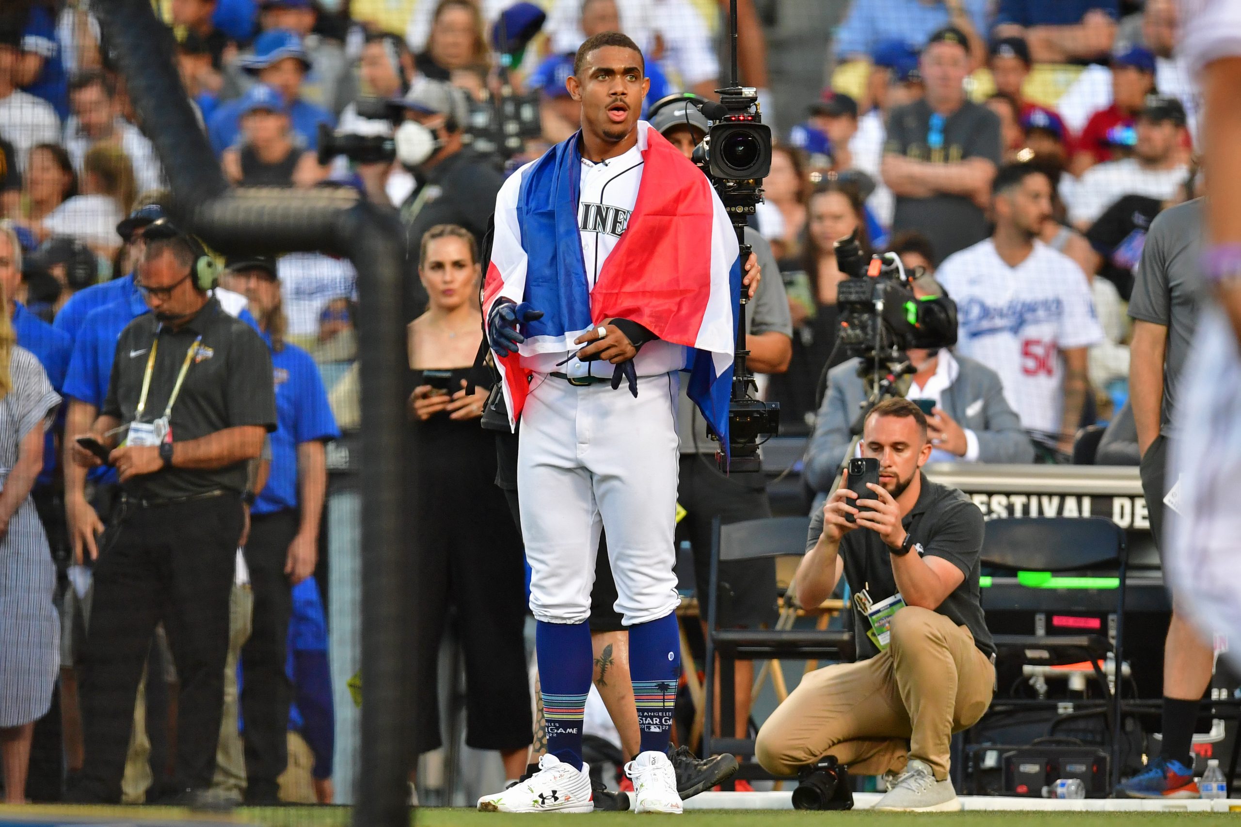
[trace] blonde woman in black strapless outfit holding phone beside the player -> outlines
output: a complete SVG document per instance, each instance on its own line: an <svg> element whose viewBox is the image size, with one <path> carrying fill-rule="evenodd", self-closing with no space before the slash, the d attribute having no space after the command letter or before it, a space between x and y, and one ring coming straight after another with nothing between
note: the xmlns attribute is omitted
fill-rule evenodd
<svg viewBox="0 0 1241 827"><path fill-rule="evenodd" d="M465 662L465 743L499 750L505 777L532 740L521 537L495 487L495 439L479 428L488 388L469 374L483 337L474 237L453 224L422 237L427 311L410 325L410 398L418 466L418 744L441 745L436 663L449 604Z"/></svg>

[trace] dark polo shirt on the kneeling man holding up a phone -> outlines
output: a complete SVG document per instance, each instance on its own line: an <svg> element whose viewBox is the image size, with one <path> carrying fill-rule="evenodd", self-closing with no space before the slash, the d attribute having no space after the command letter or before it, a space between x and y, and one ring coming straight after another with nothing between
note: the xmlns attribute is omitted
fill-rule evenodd
<svg viewBox="0 0 1241 827"><path fill-rule="evenodd" d="M931 482L922 475L922 491L901 524L922 544L925 557L941 557L965 575L952 594L936 609L958 626L967 626L974 636L974 645L983 655L995 653L992 632L987 629L978 586L979 553L983 549L983 512L959 489ZM810 521L807 551L814 547L823 533L823 511L817 510ZM910 552L916 554L917 552ZM892 577L892 554L870 528L856 528L840 541L840 555L845 562L845 580L853 593L866 589L871 600L879 603L896 594ZM854 641L858 660L879 655L879 650L866 637L870 621L855 608Z"/></svg>

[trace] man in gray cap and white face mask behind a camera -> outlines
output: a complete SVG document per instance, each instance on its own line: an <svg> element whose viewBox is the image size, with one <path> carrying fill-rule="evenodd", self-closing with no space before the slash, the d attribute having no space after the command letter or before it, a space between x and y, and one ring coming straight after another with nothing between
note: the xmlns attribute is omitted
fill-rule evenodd
<svg viewBox="0 0 1241 827"><path fill-rule="evenodd" d="M397 160L416 182L401 205L406 249L422 249L423 233L437 224L457 224L483 238L504 177L493 159L462 141L469 117L464 93L442 81L421 81L401 103L406 123L396 130ZM416 276L411 286L421 311L426 291Z"/></svg>

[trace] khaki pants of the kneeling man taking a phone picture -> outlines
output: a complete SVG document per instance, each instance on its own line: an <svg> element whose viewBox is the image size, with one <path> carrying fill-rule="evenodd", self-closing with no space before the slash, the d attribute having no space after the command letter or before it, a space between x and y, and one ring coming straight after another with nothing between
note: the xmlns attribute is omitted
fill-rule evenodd
<svg viewBox="0 0 1241 827"><path fill-rule="evenodd" d="M992 702L995 667L965 626L906 606L876 657L802 678L758 732L755 754L769 772L797 775L825 755L858 775L901 771L910 758L948 777L952 733Z"/></svg>

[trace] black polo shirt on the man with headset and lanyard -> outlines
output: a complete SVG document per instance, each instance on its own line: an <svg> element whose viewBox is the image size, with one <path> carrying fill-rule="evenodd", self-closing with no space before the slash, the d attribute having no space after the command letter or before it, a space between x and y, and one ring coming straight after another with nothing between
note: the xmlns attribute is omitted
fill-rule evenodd
<svg viewBox="0 0 1241 827"><path fill-rule="evenodd" d="M276 387L267 345L253 327L225 312L216 299L208 300L180 330L161 325L153 314L129 322L117 340L103 415L115 417L123 424L133 422L150 348L158 340L141 420L154 422L163 417L185 355L199 336L202 341L197 355L172 405L172 441L184 443L241 425L276 430ZM217 489L244 491L246 462L211 471L166 469L134 477L124 487L129 493L153 500Z"/></svg>

